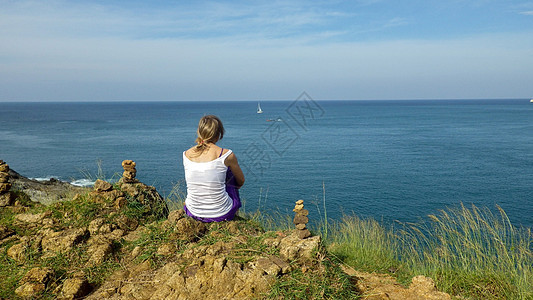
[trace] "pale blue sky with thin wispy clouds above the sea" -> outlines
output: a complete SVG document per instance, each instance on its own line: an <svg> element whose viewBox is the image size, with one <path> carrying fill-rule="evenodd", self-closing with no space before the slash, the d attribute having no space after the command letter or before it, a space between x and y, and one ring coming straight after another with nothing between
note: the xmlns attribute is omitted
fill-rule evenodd
<svg viewBox="0 0 533 300"><path fill-rule="evenodd" d="M0 101L533 97L533 1L4 1Z"/></svg>

